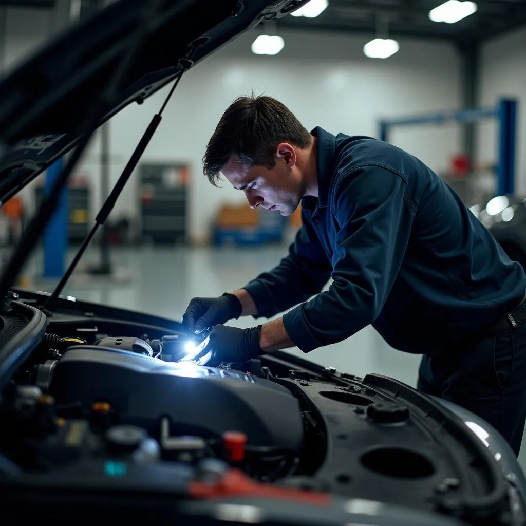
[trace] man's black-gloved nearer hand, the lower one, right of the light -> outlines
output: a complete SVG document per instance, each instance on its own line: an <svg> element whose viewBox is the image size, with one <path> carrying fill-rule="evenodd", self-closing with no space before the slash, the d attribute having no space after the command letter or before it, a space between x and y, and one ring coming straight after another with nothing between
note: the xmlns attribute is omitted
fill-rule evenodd
<svg viewBox="0 0 526 526"><path fill-rule="evenodd" d="M250 329L238 329L216 325L208 335L205 351L212 351L216 361L246 362L264 354L259 346L261 325Z"/></svg>

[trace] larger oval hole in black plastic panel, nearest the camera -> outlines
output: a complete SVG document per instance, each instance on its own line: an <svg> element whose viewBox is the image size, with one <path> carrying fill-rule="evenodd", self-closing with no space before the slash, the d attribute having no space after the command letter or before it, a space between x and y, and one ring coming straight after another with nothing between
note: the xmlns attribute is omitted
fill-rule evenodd
<svg viewBox="0 0 526 526"><path fill-rule="evenodd" d="M422 479L434 473L433 464L420 453L402 448L378 448L363 454L363 466L371 471L402 479Z"/></svg>

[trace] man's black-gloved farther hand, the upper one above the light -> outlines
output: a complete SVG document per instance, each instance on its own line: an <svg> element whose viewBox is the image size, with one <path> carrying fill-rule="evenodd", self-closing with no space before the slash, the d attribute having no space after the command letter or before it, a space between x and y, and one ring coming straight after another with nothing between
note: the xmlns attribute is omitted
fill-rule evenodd
<svg viewBox="0 0 526 526"><path fill-rule="evenodd" d="M242 307L234 294L225 293L219 298L194 298L183 315L183 325L199 334L214 325L241 316Z"/></svg>

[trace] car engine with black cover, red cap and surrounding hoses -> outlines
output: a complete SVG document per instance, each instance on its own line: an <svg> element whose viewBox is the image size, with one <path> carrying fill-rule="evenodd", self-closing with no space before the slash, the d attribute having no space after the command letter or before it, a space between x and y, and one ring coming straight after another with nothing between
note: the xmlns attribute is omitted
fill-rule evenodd
<svg viewBox="0 0 526 526"><path fill-rule="evenodd" d="M89 454L188 465L219 458L256 479L283 477L295 467L304 439L298 400L250 372L181 361L189 345L177 335L153 341L104 337L93 345L44 335L36 355L47 359L24 371L30 383L17 385L12 403L3 404L0 415L14 432L4 448L14 448L16 463L38 469L41 459L29 451L33 441L20 447L31 427L32 434L50 440L39 444L39 457L61 441L70 457L76 433L80 455L88 448ZM62 462L58 451L56 462Z"/></svg>

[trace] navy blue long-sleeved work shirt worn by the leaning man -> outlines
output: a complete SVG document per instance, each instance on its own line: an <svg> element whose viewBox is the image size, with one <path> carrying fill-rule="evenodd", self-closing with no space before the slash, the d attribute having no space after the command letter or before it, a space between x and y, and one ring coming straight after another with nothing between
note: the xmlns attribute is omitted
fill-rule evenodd
<svg viewBox="0 0 526 526"><path fill-rule="evenodd" d="M300 304L283 321L305 352L372 324L390 346L427 353L520 302L522 267L430 168L370 137L311 133L318 197L302 199L288 256L245 287L258 317Z"/></svg>

